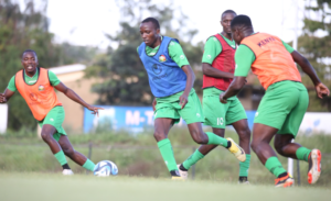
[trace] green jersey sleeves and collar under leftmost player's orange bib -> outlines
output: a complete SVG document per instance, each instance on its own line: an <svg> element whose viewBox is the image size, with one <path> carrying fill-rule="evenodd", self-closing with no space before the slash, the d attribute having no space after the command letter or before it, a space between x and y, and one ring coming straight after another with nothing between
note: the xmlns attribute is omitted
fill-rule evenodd
<svg viewBox="0 0 331 201"><path fill-rule="evenodd" d="M24 71L25 83L30 85L30 86L34 85L36 82L36 80L38 80L38 75L39 75L38 74L38 68L36 68L35 74L32 77L28 76L25 74L25 71ZM61 82L60 79L56 77L56 75L53 71L51 71L51 70L49 70L49 78L50 78L50 82L51 82L52 86L57 86ZM15 86L15 76L13 76L10 79L7 88L9 90L13 91L13 92L15 92L18 90L17 86Z"/></svg>

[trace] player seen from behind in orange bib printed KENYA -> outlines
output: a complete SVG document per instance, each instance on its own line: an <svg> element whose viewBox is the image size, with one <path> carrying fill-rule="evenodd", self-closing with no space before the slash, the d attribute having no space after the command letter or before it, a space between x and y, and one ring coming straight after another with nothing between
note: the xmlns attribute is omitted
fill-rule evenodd
<svg viewBox="0 0 331 201"><path fill-rule="evenodd" d="M293 179L282 168L269 145L275 136L277 153L307 161L308 182L317 182L321 174L321 152L292 143L309 102L307 89L301 83L295 62L310 77L319 98L329 96L329 89L320 81L307 58L277 36L255 33L248 16L234 18L231 29L233 38L239 46L235 53L235 78L228 89L220 96L221 102L226 103L231 97L238 93L252 69L266 89L254 120L253 150L263 165L277 177L276 187L292 186Z"/></svg>

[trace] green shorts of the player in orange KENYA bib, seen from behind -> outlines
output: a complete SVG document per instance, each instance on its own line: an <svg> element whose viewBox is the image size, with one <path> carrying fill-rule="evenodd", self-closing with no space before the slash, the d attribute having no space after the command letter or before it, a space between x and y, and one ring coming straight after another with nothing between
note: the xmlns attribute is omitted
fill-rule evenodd
<svg viewBox="0 0 331 201"><path fill-rule="evenodd" d="M276 82L268 87L254 123L278 129L278 134L291 134L296 137L308 103L308 92L301 82Z"/></svg>

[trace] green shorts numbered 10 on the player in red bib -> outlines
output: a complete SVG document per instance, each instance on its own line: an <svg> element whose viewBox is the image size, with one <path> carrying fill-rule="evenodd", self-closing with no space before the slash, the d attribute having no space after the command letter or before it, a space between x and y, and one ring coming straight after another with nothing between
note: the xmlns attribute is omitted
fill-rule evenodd
<svg viewBox="0 0 331 201"><path fill-rule="evenodd" d="M203 90L203 113L205 116L205 125L215 129L225 129L239 120L247 119L245 109L238 98L232 97L227 99L227 103L220 101L220 94L224 92L216 88L207 88Z"/></svg>

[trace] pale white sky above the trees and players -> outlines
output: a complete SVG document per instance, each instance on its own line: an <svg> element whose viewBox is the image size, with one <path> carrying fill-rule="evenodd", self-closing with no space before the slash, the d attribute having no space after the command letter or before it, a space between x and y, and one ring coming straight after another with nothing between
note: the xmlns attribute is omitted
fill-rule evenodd
<svg viewBox="0 0 331 201"><path fill-rule="evenodd" d="M275 34L285 42L295 38L296 26L298 34L303 26L303 0L175 0L174 4L189 16L189 26L199 31L193 43L204 42L209 36L220 33L221 13L227 9L250 16L256 32ZM106 48L114 44L105 34L114 35L119 31L120 11L115 0L49 0L46 14L51 22L50 32L55 34L58 43Z"/></svg>

